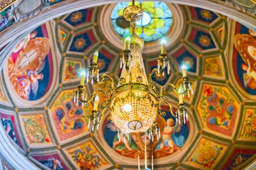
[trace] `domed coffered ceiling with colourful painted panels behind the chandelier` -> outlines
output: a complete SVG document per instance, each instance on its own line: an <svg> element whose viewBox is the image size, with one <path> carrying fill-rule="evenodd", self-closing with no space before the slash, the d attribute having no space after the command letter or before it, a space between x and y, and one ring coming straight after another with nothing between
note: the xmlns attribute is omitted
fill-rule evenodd
<svg viewBox="0 0 256 170"><path fill-rule="evenodd" d="M73 103L79 75L97 50L100 73L118 81L122 36L129 34L119 13L126 5L65 14L12 44L0 79L0 119L11 142L43 169L137 169L138 155L143 168L145 143L148 165L153 155L154 169L230 170L250 165L256 158L256 36L240 23L202 8L141 2L148 19L136 30L153 38L143 50L148 74L157 67L160 39L166 39L171 73L153 77L157 88L178 86L180 66L188 67L194 88L194 95L184 98L189 122L177 124L163 106L167 115L157 119L163 135L154 142L145 133L131 133L129 142L119 142L107 113L98 131L87 128L93 103ZM89 80L86 91L110 83L92 85ZM177 105L171 88L164 95Z"/></svg>

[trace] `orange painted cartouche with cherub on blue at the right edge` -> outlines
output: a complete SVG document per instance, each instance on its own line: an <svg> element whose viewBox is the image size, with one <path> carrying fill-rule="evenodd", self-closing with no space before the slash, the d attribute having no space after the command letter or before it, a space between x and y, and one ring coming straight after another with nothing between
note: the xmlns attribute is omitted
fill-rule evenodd
<svg viewBox="0 0 256 170"><path fill-rule="evenodd" d="M256 89L256 40L249 34L236 34L234 45L245 62L241 65L246 71L243 74L244 87L254 90Z"/></svg>

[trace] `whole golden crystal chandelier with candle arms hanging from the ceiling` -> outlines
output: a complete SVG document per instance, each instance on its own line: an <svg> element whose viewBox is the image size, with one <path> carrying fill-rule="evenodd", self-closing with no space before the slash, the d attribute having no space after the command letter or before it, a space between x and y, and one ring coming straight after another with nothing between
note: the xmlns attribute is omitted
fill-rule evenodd
<svg viewBox="0 0 256 170"><path fill-rule="evenodd" d="M93 61L87 69L87 76L84 71L81 73L81 81L76 91L74 102L78 105L79 101L81 101L83 106L84 103L91 102L95 97L93 111L91 111L88 123L88 128L90 124L92 124L92 130L94 130L94 128L99 129L99 123L103 119L104 112L109 108L110 116L108 120L119 128L119 141L121 140L120 136L124 137L125 142L126 139L129 140L128 133L140 133L147 130L149 139L154 141L154 136L156 136L157 140L160 138L160 129L156 122L157 113L162 116L166 115L166 113L162 111L161 105L165 104L169 106L170 112L172 116L176 118L177 122L180 123L180 119L183 119L184 123L188 121L188 114L183 105L183 97L186 92L188 92L189 96L189 91L193 94L192 84L186 76L186 66L183 65L183 77L179 90L177 90L173 84L166 84L161 86L159 93L157 92L155 83L153 83L151 79L152 75L156 74L157 77L161 75L164 76L164 69L166 67L168 74L170 71L169 60L166 55L166 42L164 39L161 41L161 54L157 61L157 68L154 68L147 78L141 54L144 41L135 34L136 22L142 19L143 10L138 6L134 6L134 0L132 4L131 6L127 6L123 11L123 16L130 22L132 34L130 37L125 37L123 41L125 50L120 58L122 73L117 86L115 86L114 80L107 74L102 74L99 78L99 68L97 65L98 52L96 51L93 56ZM111 80L111 86L106 91L93 91L90 99L87 100L84 81L86 77L86 81L88 82L89 76L91 76L92 84L93 82L102 84L105 77L107 77ZM177 105L176 113L173 113L172 106L167 102L168 98L163 96L163 89L166 86L172 86L173 91L179 96L179 104ZM97 93L105 95L104 102L99 103L99 96L96 96ZM110 96L108 94L110 94ZM102 113L97 111L98 105L105 107Z"/></svg>

